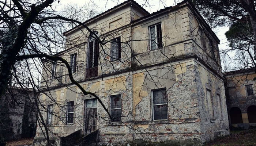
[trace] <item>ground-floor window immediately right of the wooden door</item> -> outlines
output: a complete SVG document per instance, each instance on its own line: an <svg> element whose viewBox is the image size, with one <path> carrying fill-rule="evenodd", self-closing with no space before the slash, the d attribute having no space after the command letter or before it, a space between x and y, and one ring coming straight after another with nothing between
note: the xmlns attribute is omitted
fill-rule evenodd
<svg viewBox="0 0 256 146"><path fill-rule="evenodd" d="M112 122L121 121L121 95L110 96L110 113Z"/></svg>

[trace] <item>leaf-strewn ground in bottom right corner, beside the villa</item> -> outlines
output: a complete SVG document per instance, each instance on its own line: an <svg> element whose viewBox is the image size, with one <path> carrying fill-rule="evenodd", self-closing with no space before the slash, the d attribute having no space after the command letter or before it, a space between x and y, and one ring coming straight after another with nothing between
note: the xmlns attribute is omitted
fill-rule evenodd
<svg viewBox="0 0 256 146"><path fill-rule="evenodd" d="M256 146L256 129L230 131L229 136L217 138L204 146Z"/></svg>

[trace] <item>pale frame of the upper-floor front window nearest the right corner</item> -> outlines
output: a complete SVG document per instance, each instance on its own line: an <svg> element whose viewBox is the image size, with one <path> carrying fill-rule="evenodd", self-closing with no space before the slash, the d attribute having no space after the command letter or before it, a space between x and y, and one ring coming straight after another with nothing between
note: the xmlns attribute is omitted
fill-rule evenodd
<svg viewBox="0 0 256 146"><path fill-rule="evenodd" d="M163 46L163 44L162 44L163 41L159 40L160 42L158 42L158 40L157 40L157 38L158 38L157 37L157 25L161 26L161 37L159 36L159 39L162 40L162 23L159 22L159 23L156 23L154 25L148 26L150 50L156 50L156 49L159 49L159 48L161 48ZM151 42L153 41L153 40L151 40L151 30L150 30L151 27L155 27L155 35L156 35L155 36L155 40L154 40L154 43L156 44L156 48L155 49L152 49L152 46L151 46ZM158 45L158 43L159 43L159 45Z"/></svg>

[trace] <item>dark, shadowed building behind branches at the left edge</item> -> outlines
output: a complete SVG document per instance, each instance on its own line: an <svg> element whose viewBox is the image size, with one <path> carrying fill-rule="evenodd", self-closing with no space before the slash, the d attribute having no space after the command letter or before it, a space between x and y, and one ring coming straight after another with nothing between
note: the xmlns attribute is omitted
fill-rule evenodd
<svg viewBox="0 0 256 146"><path fill-rule="evenodd" d="M0 98L0 142L35 136L37 118L29 103L31 91L12 87Z"/></svg>

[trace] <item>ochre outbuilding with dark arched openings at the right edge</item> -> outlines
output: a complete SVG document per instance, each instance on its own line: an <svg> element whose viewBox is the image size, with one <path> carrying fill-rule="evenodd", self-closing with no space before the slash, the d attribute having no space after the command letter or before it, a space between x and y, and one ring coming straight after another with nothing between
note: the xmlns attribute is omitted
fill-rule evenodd
<svg viewBox="0 0 256 146"><path fill-rule="evenodd" d="M256 127L255 68L227 72L224 76L230 128Z"/></svg>

